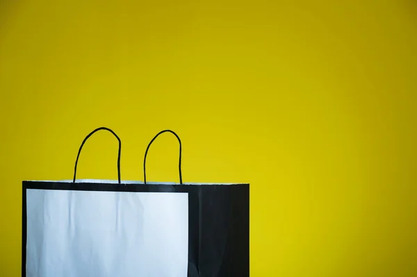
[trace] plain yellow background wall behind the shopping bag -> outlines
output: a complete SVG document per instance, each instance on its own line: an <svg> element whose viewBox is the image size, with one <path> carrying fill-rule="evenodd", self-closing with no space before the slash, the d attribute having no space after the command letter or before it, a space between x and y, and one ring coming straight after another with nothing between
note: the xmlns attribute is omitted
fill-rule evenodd
<svg viewBox="0 0 417 277"><path fill-rule="evenodd" d="M251 276L417 276L415 1L0 1L0 276L22 180L107 126L122 178L183 140L186 182L251 183ZM80 178L116 178L116 140ZM177 143L149 156L177 181Z"/></svg>

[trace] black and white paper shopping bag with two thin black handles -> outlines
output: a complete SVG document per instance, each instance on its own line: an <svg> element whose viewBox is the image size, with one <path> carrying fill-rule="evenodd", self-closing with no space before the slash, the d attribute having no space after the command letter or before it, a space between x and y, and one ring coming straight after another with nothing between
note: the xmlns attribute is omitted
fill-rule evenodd
<svg viewBox="0 0 417 277"><path fill-rule="evenodd" d="M147 182L165 132L180 182ZM118 183L24 181L22 276L249 276L249 184L183 183L181 150L158 133L144 182L120 181L120 151Z"/></svg>

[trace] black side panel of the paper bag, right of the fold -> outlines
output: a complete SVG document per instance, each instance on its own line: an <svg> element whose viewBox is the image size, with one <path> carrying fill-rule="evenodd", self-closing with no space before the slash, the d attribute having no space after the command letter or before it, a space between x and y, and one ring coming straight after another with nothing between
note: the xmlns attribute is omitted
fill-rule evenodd
<svg viewBox="0 0 417 277"><path fill-rule="evenodd" d="M200 192L199 277L249 276L249 185Z"/></svg>

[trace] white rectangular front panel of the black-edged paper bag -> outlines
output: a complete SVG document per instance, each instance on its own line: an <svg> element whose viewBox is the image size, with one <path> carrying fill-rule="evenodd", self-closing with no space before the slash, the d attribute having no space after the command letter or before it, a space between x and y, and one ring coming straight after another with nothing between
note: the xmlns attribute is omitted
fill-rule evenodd
<svg viewBox="0 0 417 277"><path fill-rule="evenodd" d="M188 194L26 190L27 277L186 277Z"/></svg>

